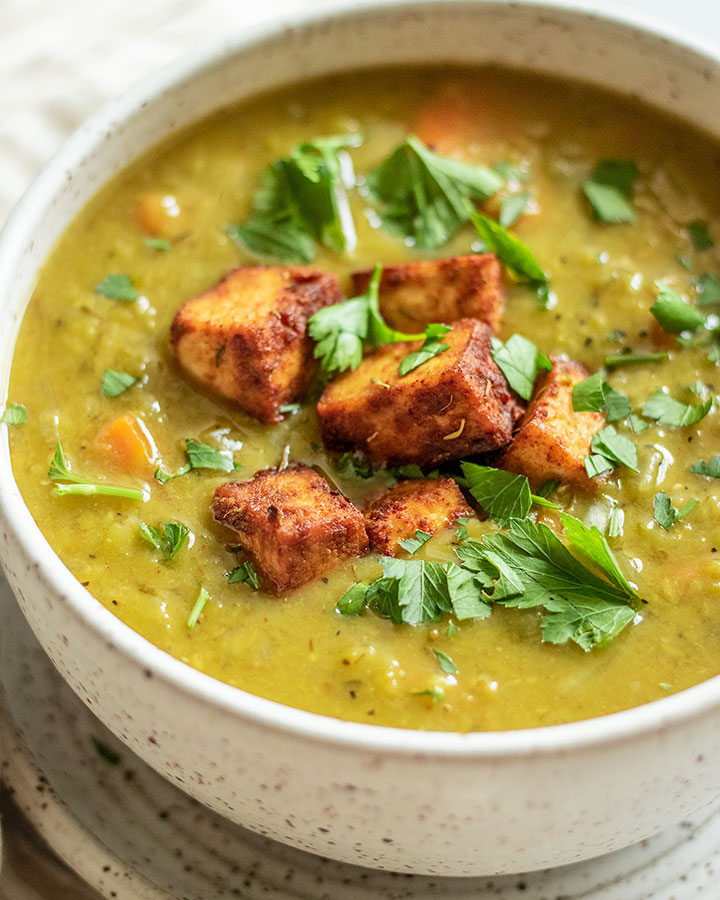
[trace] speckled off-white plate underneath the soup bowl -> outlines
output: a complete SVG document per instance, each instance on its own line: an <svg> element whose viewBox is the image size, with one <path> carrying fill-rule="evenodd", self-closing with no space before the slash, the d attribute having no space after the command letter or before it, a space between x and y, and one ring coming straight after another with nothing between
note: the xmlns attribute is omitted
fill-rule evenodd
<svg viewBox="0 0 720 900"><path fill-rule="evenodd" d="M53 668L2 576L0 619L3 782L60 859L108 900L710 900L718 890L717 806L595 860L495 878L394 875L277 844L119 744Z"/></svg>

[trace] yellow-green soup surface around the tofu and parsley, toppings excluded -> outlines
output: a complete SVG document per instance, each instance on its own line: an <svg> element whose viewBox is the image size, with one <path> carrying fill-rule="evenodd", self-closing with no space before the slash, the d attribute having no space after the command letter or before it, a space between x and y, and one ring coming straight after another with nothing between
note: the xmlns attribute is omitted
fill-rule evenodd
<svg viewBox="0 0 720 900"><path fill-rule="evenodd" d="M323 447L312 402L268 426L192 383L174 360L170 323L181 303L233 267L257 262L226 229L247 219L268 164L302 141L350 134L362 139L349 150L362 176L411 133L468 163L505 164L501 196L529 194L509 228L549 274L550 300L539 303L506 274L500 338L524 335L590 373L608 356L659 354L608 368L607 381L636 414L661 388L690 407L714 397L715 144L617 97L512 72L333 77L225 111L156 149L105 188L59 242L28 307L10 389L10 400L27 409L27 422L10 427L15 476L41 530L99 602L158 647L252 693L344 719L461 731L551 725L642 704L717 674L720 482L689 471L716 453L714 408L689 425L645 416L634 432L627 418L614 422L635 445L639 471L618 465L596 479L595 490L560 485L552 494L607 535L642 598L634 622L607 647L585 652L572 642L543 642L538 608L498 604L484 619L419 625L394 625L369 611L341 615L336 603L345 591L380 574L376 553L279 597L228 582L237 561L227 549L230 533L212 517L218 485L283 460L304 462L362 508L388 480L359 477L352 465L336 470L338 454ZM637 165L633 221L599 220L583 194L608 159ZM467 225L437 250L418 250L380 226L366 192L349 197L357 246L318 248L314 262L340 278L347 296L355 269L478 249ZM497 217L497 198L482 210ZM137 289L132 302L96 290L118 274ZM657 281L710 316L700 332L681 341L658 328L650 313ZM106 370L137 381L108 396ZM137 417L157 448L142 477L103 443L103 430L124 415ZM160 483L156 465L176 472L186 438L231 451L240 472L198 469ZM58 440L74 471L140 484L146 501L57 496L48 466ZM669 498L665 514L661 492ZM676 517L692 498L699 503ZM534 506L530 518L563 533L553 508ZM165 561L140 526L175 521L190 537ZM480 511L467 522L474 539L498 529ZM455 559L459 540L446 529L416 558ZM201 588L207 599L191 627Z"/></svg>

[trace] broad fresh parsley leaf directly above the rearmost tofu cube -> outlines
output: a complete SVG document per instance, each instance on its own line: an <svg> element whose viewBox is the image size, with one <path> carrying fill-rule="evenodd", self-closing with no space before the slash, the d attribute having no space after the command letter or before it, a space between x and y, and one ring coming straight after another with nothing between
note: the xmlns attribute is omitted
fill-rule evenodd
<svg viewBox="0 0 720 900"><path fill-rule="evenodd" d="M447 243L470 218L471 201L487 200L502 184L491 169L439 156L416 137L367 175L384 227L426 250Z"/></svg>

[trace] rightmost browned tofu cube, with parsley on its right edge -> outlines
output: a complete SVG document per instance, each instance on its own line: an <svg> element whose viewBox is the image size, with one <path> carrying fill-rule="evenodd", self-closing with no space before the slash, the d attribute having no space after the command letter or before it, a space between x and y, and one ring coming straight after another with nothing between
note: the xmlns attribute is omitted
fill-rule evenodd
<svg viewBox="0 0 720 900"><path fill-rule="evenodd" d="M587 378L587 370L562 356L551 360L552 369L538 379L518 432L500 454L497 466L527 475L534 482L557 478L587 488L591 481L584 459L605 417L572 408L573 386Z"/></svg>

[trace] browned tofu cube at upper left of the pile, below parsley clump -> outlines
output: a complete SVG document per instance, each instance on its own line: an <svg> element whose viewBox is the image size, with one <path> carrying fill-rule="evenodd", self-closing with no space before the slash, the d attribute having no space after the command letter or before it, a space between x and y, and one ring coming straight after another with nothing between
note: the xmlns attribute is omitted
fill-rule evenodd
<svg viewBox="0 0 720 900"><path fill-rule="evenodd" d="M171 340L182 368L261 422L302 397L316 371L308 318L337 303L334 275L307 266L233 269L178 310Z"/></svg>

